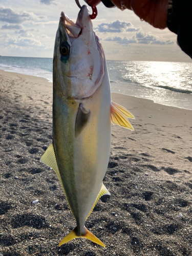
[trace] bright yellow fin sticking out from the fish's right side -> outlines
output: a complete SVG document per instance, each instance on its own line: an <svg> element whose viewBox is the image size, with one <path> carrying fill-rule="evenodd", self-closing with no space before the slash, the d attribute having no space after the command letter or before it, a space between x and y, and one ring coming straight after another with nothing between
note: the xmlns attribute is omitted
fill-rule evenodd
<svg viewBox="0 0 192 256"><path fill-rule="evenodd" d="M111 122L118 124L121 127L125 127L134 131L134 127L127 118L135 118L131 112L123 108L123 106L112 102L111 103Z"/></svg>

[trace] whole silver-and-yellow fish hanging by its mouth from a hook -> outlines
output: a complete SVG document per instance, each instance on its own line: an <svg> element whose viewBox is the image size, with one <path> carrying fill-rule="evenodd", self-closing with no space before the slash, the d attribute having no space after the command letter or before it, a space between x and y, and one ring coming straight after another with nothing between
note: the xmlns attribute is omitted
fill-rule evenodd
<svg viewBox="0 0 192 256"><path fill-rule="evenodd" d="M53 58L53 142L40 161L53 168L65 193L76 227L59 246L87 238L105 246L84 225L95 204L110 195L102 180L108 167L111 122L134 130L134 116L112 102L106 60L83 5L76 23L63 12Z"/></svg>

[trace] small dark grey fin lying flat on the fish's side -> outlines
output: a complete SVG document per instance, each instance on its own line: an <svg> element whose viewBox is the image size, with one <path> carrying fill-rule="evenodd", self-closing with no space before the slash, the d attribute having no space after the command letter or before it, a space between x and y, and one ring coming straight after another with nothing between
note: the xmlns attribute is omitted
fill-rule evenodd
<svg viewBox="0 0 192 256"><path fill-rule="evenodd" d="M89 121L91 112L83 108L83 104L79 104L79 108L75 120L75 138L81 133L83 127Z"/></svg>

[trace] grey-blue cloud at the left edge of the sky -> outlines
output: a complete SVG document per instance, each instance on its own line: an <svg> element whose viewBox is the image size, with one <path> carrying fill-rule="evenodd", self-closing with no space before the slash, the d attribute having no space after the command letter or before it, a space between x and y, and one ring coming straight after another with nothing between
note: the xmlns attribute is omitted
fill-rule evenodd
<svg viewBox="0 0 192 256"><path fill-rule="evenodd" d="M11 24L30 23L34 20L46 18L46 16L37 16L32 12L16 12L11 8L0 7L0 21Z"/></svg>

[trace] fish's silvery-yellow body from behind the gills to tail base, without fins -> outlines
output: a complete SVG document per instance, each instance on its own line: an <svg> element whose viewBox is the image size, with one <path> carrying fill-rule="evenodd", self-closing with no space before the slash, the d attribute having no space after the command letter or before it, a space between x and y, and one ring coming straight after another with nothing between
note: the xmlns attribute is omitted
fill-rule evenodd
<svg viewBox="0 0 192 256"><path fill-rule="evenodd" d="M76 117L81 107L90 113L90 118L75 137ZM110 111L111 92L107 71L101 86L88 98L66 99L53 91L53 146L78 233L81 233L95 203L108 166Z"/></svg>

